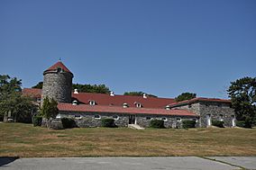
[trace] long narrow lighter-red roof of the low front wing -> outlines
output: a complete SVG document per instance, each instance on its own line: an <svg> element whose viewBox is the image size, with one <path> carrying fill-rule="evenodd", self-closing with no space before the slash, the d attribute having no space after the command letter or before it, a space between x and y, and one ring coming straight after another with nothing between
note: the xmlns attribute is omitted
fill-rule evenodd
<svg viewBox="0 0 256 170"><path fill-rule="evenodd" d="M197 116L194 112L186 110L165 110L165 109L148 109L148 108L123 108L117 106L105 105L87 105L78 104L72 105L71 103L59 103L59 111L70 112L111 112L111 113L127 113L127 114L159 114L159 115L178 115L178 116Z"/></svg>

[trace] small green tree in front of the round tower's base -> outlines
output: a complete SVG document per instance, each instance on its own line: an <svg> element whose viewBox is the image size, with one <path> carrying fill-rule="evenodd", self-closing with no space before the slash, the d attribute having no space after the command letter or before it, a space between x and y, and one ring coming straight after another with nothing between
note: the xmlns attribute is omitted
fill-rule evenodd
<svg viewBox="0 0 256 170"><path fill-rule="evenodd" d="M50 118L55 118L59 113L59 109L57 106L58 103L55 100L49 99L49 97L46 96L43 99L43 103L41 106L41 116L47 119L48 121L50 120Z"/></svg>

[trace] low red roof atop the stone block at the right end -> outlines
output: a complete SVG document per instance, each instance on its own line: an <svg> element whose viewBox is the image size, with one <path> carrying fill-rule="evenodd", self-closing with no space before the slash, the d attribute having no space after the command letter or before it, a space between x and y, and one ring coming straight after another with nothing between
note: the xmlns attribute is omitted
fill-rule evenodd
<svg viewBox="0 0 256 170"><path fill-rule="evenodd" d="M231 103L231 101L227 100L227 99L197 97L197 98L190 99L187 101L181 101L178 103L170 103L169 106L183 105L183 104L187 104L187 103L198 103L198 102Z"/></svg>

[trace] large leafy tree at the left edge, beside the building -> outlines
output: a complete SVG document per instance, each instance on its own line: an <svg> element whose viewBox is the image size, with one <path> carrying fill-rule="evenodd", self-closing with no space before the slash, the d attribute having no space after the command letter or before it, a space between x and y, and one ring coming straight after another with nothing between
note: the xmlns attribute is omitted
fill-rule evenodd
<svg viewBox="0 0 256 170"><path fill-rule="evenodd" d="M36 106L32 99L21 93L22 80L0 75L0 117L3 120L11 112L14 121L31 122Z"/></svg>

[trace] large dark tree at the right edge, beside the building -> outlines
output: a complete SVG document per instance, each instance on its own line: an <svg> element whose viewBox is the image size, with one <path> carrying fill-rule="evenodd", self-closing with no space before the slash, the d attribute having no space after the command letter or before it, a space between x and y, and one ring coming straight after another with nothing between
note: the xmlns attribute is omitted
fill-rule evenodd
<svg viewBox="0 0 256 170"><path fill-rule="evenodd" d="M256 77L243 77L231 82L227 90L231 98L236 119L245 121L245 126L251 128L256 118Z"/></svg>

